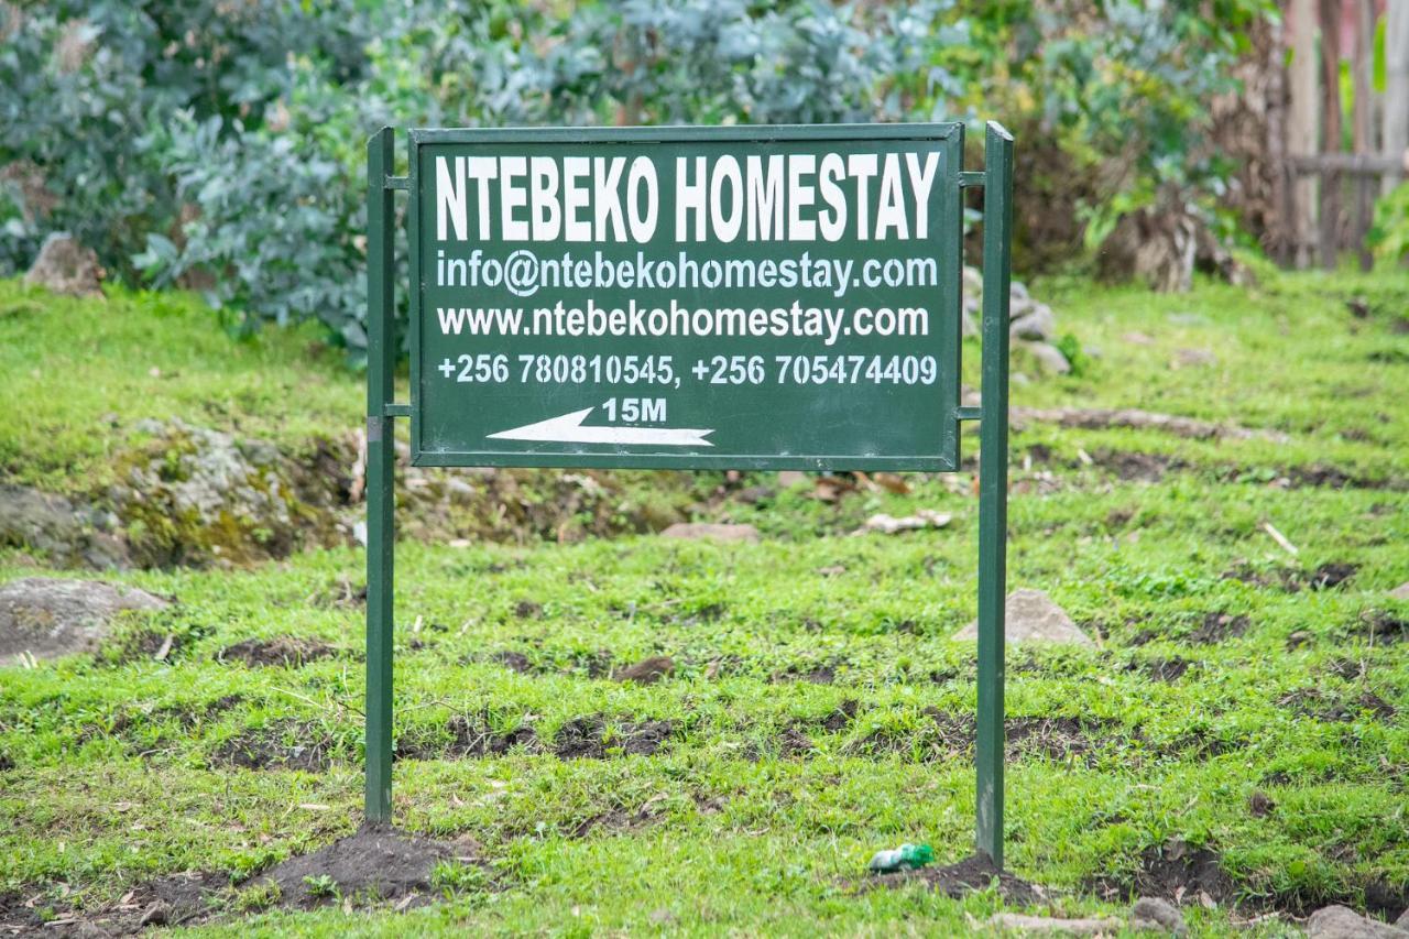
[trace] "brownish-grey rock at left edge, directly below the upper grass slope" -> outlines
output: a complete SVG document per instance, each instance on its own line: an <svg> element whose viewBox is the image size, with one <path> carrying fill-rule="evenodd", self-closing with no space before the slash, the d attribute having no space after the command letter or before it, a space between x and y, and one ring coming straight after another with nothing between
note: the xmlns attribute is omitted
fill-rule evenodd
<svg viewBox="0 0 1409 939"><path fill-rule="evenodd" d="M0 544L48 554L65 567L124 568L127 546L107 513L27 486L0 486Z"/></svg>

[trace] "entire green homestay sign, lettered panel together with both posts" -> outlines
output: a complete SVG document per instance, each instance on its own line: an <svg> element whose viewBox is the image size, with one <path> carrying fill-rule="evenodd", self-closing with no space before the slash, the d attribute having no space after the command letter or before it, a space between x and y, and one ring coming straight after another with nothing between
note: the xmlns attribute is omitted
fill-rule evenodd
<svg viewBox="0 0 1409 939"><path fill-rule="evenodd" d="M998 123L988 124L982 171L964 169L961 123L411 130L407 176L395 175L393 147L389 127L368 142L366 818L386 822L392 816L393 419L411 422L414 465L931 472L958 468L960 423L978 420L975 829L978 850L1002 866L1009 133ZM641 158L650 165L638 165ZM710 162L716 172L706 190ZM747 176L741 166L747 166ZM848 169L859 169L859 179L847 180ZM576 186L569 173L588 182ZM816 189L799 188L803 173L814 178ZM510 175L524 180L520 189L510 188ZM841 204L840 185L847 182L855 186L850 206ZM604 197L609 190L603 185L621 183L624 203L610 204L616 196L609 196L604 209L586 204L593 193ZM868 189L868 183L876 185ZM496 189L500 185L504 188ZM726 185L727 199L721 195ZM979 406L960 402L962 190L971 188L983 190ZM410 195L409 403L395 400L393 383L399 357L392 326L397 190ZM497 192L499 213L490 211L492 192ZM478 211L468 204L473 193ZM745 209L745 196L762 200L769 193L772 203ZM788 231L795 243L806 244L782 240L788 237L785 193L792 210ZM802 227L807 221L800 221L793 207L797 202L819 207L814 227ZM914 213L907 214L912 204ZM848 209L854 223L850 237ZM514 219L516 210L521 219ZM744 217L751 226L747 243L738 237ZM704 234L710 220L713 240ZM816 237L824 220L833 226L826 240ZM500 224L497 238L495 221ZM569 224L576 226L573 235L565 234ZM768 224L775 226L772 238ZM614 238L604 237L613 230ZM900 240L914 231L913 251L920 255L907 261L885 257L892 250L888 231ZM544 257L534 252L534 240L551 244L538 248ZM440 247L433 251L431 243ZM799 248L806 251L799 254ZM669 269L652 268L647 254L657 261L664 257ZM778 272L788 264L793 281L782 286L792 289L810 278L810 302L827 307L803 310L796 300L786 306L797 295L797 289L779 289ZM864 282L862 271L868 276L876 272L876 278ZM733 296L743 295L734 303L772 309L707 309L730 295L714 289L724 272L740 278L768 272L758 282L723 286L733 286ZM892 272L899 274L892 278ZM666 274L671 283L665 283ZM917 281L907 281L910 274ZM651 320L635 300L640 295L650 303L650 296L661 292L657 276L659 288L678 289L668 302L657 300L671 309L655 309ZM471 282L473 278L480 281ZM693 278L690 285L686 278ZM555 290L568 303L586 303L586 312L581 306L565 309L561 299L557 309L533 306L535 295L545 305ZM844 296L848 290L851 297ZM676 295L689 306L676 309ZM830 306L834 299L850 305L885 303L888 297L893 309L852 307L851 319L845 319L848 310ZM465 302L507 302L510 307L486 312L455 306ZM473 319L511 314L514 302L524 303L520 314L531 316L513 323ZM923 330L903 331L907 310L929 317ZM671 321L685 334L666 329ZM917 321L912 319L912 326ZM882 323L892 333L878 337ZM890 354L898 323L909 343L902 351L923 354ZM650 329L643 329L645 324ZM936 329L930 330L931 324ZM530 351L523 352L526 348ZM603 354L583 354L593 348ZM744 354L710 355L740 350ZM837 354L841 350L859 354ZM789 354L795 351L809 354ZM690 358L693 369L688 368ZM643 389L652 396L599 400L603 393Z"/></svg>

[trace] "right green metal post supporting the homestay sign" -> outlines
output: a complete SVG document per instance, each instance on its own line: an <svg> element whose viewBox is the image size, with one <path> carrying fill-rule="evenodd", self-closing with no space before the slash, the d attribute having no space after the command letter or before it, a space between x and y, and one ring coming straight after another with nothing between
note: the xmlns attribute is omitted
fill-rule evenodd
<svg viewBox="0 0 1409 939"><path fill-rule="evenodd" d="M978 503L978 850L1003 866L1003 602L1007 594L1007 290L1013 138L983 147L983 367Z"/></svg>

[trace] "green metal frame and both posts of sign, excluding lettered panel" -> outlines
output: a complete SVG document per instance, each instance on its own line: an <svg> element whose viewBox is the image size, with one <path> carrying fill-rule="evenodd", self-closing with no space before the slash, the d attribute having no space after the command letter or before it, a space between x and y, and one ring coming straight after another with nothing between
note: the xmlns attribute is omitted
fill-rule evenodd
<svg viewBox="0 0 1409 939"><path fill-rule="evenodd" d="M964 189L983 190L983 305L982 305L982 403L958 402L961 344L954 330L947 354L952 355L952 388L940 388L940 420L945 422L947 453L941 458L809 458L786 460L758 454L757 460L719 455L626 457L609 460L592 454L444 454L421 450L420 352L421 289L420 173L418 148L437 142L638 142L662 141L823 141L823 140L929 140L941 141L952 154L945 165L945 224L941 244L944 278L941 323L957 316L962 302L962 214ZM540 130L411 130L409 133L409 176L395 175L395 131L383 127L368 141L368 417L366 417L366 818L392 819L392 701L393 701L393 615L395 594L395 433L393 419L410 417L411 454L416 465L541 465L637 468L828 468L828 470L938 470L958 468L958 426L978 420L979 429L979 537L978 537L978 733L975 842L995 864L1003 864L1003 603L1007 553L1007 368L1009 368L1009 282L1012 268L1013 138L989 121L985 134L982 171L964 171L962 124L871 124L806 127L675 127L675 128L540 128ZM410 235L411 290L410 367L411 400L395 400L395 371L399 358L392 317L393 295L393 197L410 193L407 228ZM950 228L952 227L952 237Z"/></svg>

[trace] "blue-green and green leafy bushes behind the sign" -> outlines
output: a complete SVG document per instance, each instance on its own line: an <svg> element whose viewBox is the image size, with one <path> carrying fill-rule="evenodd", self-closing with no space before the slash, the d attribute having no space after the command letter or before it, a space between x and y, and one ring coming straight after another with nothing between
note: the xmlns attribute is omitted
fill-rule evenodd
<svg viewBox="0 0 1409 939"><path fill-rule="evenodd" d="M234 329L318 319L356 357L362 148L383 124L989 117L1023 141L1019 269L1051 268L1161 193L1219 217L1236 168L1206 103L1268 17L1270 0L0 4L0 274L69 231L110 275L200 288Z"/></svg>

